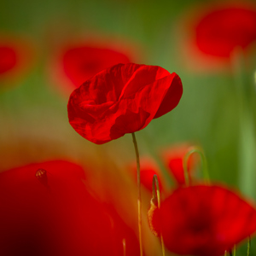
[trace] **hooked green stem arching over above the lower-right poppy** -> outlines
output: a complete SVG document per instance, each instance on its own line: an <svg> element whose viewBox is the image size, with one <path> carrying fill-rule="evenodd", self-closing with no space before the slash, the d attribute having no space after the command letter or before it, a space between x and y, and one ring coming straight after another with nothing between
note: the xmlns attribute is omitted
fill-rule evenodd
<svg viewBox="0 0 256 256"><path fill-rule="evenodd" d="M197 147L191 147L189 148L188 152L185 154L183 158L183 170L184 170L184 177L185 177L185 183L187 186L190 185L190 177L189 177L189 170L188 170L188 160L189 156L191 154L197 153L201 156L201 169L203 172L203 177L206 183L210 183L210 177L209 177L209 172L207 168L207 159L205 154L203 154L201 148Z"/></svg>

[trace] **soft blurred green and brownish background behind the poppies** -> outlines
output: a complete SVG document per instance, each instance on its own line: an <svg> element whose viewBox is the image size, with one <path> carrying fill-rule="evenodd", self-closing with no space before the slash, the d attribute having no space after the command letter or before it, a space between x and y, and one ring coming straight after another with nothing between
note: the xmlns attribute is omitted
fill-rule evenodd
<svg viewBox="0 0 256 256"><path fill-rule="evenodd" d="M81 35L88 38L93 33L131 44L137 62L164 67L177 73L183 81L183 97L177 108L137 132L140 154L159 161L161 148L173 143L195 143L207 156L212 181L237 188L236 77L231 68L193 72L184 65L183 50L178 45L177 38L183 36L179 23L190 9L203 3L195 0L2 0L0 34L29 38L34 57L29 72L21 79L15 82L6 79L0 84L0 171L63 158L91 166L94 172L90 180L93 186L100 186L106 176L113 175L113 171L104 167L107 159L118 166L118 177L126 175L120 173L121 166L135 159L131 135L104 145L80 137L68 123L68 96L61 93L49 76L49 61L61 40ZM243 80L247 84L254 83L254 57L253 54L249 57L250 65ZM103 166L106 170L102 172L102 168L93 166ZM245 253L246 248L241 247L237 255ZM253 245L254 254L256 245Z"/></svg>

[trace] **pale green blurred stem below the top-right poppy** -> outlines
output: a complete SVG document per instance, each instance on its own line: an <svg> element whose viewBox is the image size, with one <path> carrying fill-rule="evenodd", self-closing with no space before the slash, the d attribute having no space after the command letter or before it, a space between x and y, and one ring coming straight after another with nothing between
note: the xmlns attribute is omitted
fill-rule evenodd
<svg viewBox="0 0 256 256"><path fill-rule="evenodd" d="M253 113L253 108L255 107L255 86L251 80L247 80L244 69L244 56L241 49L234 50L231 61L239 113L238 183L241 192L253 198L256 171Z"/></svg>

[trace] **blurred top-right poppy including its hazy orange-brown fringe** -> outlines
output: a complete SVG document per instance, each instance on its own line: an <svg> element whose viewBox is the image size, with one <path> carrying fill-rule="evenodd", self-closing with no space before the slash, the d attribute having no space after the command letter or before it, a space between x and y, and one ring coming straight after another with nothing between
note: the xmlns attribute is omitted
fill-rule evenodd
<svg viewBox="0 0 256 256"><path fill-rule="evenodd" d="M181 22L183 54L193 70L229 67L230 55L256 40L256 6L247 2L197 6Z"/></svg>

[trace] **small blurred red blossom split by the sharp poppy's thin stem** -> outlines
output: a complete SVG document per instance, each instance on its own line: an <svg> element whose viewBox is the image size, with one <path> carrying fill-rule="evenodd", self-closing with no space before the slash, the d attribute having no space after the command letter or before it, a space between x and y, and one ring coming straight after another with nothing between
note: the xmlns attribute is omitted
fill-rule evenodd
<svg viewBox="0 0 256 256"><path fill-rule="evenodd" d="M135 181L137 181L137 164L134 162L131 166L131 175ZM160 191L162 190L161 173L157 164L153 159L142 157L140 158L140 170L141 170L141 183L145 189L148 189L152 193L152 182L154 174L157 175L159 181Z"/></svg>

